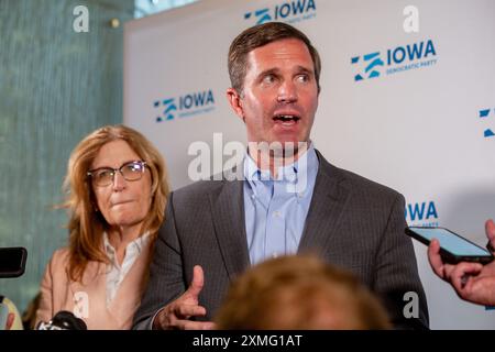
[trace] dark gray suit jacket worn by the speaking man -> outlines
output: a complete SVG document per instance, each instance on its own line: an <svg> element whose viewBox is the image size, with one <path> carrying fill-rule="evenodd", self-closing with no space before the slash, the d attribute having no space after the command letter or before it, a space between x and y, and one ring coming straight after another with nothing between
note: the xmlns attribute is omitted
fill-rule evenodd
<svg viewBox="0 0 495 352"><path fill-rule="evenodd" d="M312 252L355 273L383 299L397 328L427 328L428 309L411 240L404 233L398 193L329 164L319 170L298 252ZM205 180L170 194L156 240L150 282L134 328L180 296L201 265L199 304L211 320L231 280L250 265L242 180ZM404 294L419 297L419 318L406 319Z"/></svg>

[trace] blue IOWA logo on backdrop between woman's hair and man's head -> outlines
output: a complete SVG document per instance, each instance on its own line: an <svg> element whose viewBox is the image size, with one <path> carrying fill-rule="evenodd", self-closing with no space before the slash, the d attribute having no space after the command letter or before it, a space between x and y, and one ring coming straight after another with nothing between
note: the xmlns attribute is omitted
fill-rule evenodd
<svg viewBox="0 0 495 352"><path fill-rule="evenodd" d="M160 109L156 122L170 121L175 118L186 118L215 110L215 97L211 89L186 94L178 98L166 98L153 102Z"/></svg>

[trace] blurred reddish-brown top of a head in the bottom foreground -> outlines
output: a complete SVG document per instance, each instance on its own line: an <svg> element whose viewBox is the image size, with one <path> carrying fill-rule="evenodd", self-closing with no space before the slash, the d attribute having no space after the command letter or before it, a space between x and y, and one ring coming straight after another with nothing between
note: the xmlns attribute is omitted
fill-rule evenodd
<svg viewBox="0 0 495 352"><path fill-rule="evenodd" d="M219 329L388 329L378 300L351 273L315 256L263 262L230 287L216 317Z"/></svg>

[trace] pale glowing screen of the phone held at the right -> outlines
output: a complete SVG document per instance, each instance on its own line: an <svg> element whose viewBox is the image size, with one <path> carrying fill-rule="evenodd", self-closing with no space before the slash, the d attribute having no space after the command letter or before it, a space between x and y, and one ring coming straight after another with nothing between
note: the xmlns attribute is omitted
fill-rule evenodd
<svg viewBox="0 0 495 352"><path fill-rule="evenodd" d="M486 256L491 253L474 243L469 242L464 238L441 228L410 228L414 232L420 234L428 241L437 239L440 246L450 253L459 256Z"/></svg>

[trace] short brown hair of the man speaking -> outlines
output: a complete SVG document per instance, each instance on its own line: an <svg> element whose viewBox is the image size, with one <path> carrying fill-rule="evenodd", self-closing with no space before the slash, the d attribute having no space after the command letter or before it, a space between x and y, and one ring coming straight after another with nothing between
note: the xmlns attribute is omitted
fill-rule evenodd
<svg viewBox="0 0 495 352"><path fill-rule="evenodd" d="M232 88L238 94L242 94L244 78L248 72L248 54L250 52L266 44L288 38L299 40L308 47L315 66L318 91L320 91L321 61L318 51L312 46L311 41L306 34L282 22L268 22L252 26L233 40L229 48L229 76Z"/></svg>

